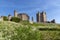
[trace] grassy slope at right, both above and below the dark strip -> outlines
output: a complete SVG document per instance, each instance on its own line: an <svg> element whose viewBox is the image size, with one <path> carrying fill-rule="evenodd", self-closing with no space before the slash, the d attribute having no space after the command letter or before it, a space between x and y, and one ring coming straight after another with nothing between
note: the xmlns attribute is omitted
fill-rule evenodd
<svg viewBox="0 0 60 40"><path fill-rule="evenodd" d="M54 23L33 23L33 24L30 24L28 22L22 22L22 24L36 27L36 29L38 29L38 30L39 30L39 28L50 29L50 30L43 30L43 31L39 30L40 34L41 34L41 37L40 37L41 40L60 40L60 24L54 24ZM53 29L53 30L51 30L51 29Z"/></svg>

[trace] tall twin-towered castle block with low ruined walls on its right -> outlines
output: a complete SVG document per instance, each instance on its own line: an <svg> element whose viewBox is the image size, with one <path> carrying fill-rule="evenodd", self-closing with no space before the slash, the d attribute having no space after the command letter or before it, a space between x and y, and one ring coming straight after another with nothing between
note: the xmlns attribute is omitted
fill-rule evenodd
<svg viewBox="0 0 60 40"><path fill-rule="evenodd" d="M51 21L47 21L47 16L46 16L46 12L42 11L36 14L36 20L38 23L42 22L42 23L55 23L55 19L51 20Z"/></svg>

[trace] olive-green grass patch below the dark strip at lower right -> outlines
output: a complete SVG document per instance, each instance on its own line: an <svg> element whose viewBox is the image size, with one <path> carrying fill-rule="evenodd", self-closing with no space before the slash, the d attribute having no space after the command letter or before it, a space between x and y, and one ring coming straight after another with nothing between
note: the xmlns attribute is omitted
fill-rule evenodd
<svg viewBox="0 0 60 40"><path fill-rule="evenodd" d="M60 31L40 31L41 40L60 40Z"/></svg>

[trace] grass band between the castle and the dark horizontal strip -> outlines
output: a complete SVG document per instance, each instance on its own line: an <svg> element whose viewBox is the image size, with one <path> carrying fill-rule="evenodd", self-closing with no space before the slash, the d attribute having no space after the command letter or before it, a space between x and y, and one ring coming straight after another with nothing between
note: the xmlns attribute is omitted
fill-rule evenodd
<svg viewBox="0 0 60 40"><path fill-rule="evenodd" d="M54 24L54 23L33 23L30 24L28 22L20 22L23 25L30 25L34 26L36 28L58 28L60 29L60 24Z"/></svg>

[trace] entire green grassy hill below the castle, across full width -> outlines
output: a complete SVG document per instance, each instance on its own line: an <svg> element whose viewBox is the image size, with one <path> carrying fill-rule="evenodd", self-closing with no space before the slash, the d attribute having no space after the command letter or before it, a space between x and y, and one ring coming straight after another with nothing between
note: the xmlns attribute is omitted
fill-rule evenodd
<svg viewBox="0 0 60 40"><path fill-rule="evenodd" d="M60 24L0 22L0 40L60 40Z"/></svg>

